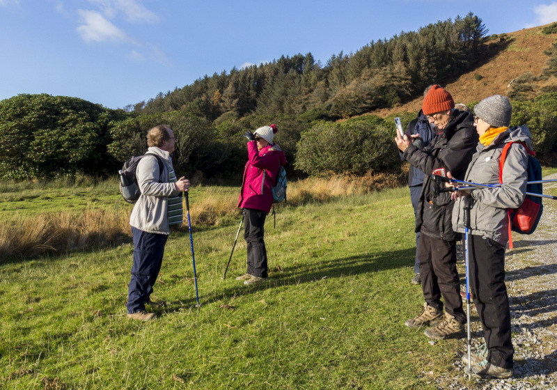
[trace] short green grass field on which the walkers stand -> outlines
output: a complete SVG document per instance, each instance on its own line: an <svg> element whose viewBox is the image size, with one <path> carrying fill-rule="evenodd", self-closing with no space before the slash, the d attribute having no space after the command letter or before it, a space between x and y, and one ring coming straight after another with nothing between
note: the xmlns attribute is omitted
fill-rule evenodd
<svg viewBox="0 0 557 390"><path fill-rule="evenodd" d="M10 207L24 202L19 217L34 220L45 212L34 204L41 196L58 208L69 201L76 214L93 204L115 210L110 212L129 208L115 208L113 186L91 186L64 191L38 183L25 192L41 195L25 199L17 198L13 186L0 187L0 215L8 217ZM58 190L64 195L56 196ZM221 207L228 210L234 201L223 199L237 191L196 187L192 212L196 208L200 220L204 208L226 203ZM276 228L267 218L270 277L264 286L246 288L234 280L245 271L241 235L221 279L239 214L194 225L200 308L194 307L189 234L173 233L148 306L157 313L152 322L125 316L129 238L81 251L5 258L0 387L434 389L432 377L462 375L453 361L464 353L464 340L430 343L423 329L404 325L423 302L421 288L409 283L415 249L408 189L353 191L306 203L299 201L307 198L304 191L295 192L296 207L278 210Z"/></svg>

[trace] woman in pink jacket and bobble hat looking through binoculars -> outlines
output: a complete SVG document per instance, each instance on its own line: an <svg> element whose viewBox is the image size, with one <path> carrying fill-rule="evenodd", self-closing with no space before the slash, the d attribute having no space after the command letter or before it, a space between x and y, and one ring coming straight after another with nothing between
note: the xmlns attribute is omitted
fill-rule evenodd
<svg viewBox="0 0 557 390"><path fill-rule="evenodd" d="M248 139L248 162L240 190L238 207L244 212L244 239L247 244L247 271L236 280L246 286L265 281L267 275L267 250L263 241L263 225L273 204L272 188L278 169L286 164L281 148L273 143L276 125L259 127L255 134L244 133Z"/></svg>

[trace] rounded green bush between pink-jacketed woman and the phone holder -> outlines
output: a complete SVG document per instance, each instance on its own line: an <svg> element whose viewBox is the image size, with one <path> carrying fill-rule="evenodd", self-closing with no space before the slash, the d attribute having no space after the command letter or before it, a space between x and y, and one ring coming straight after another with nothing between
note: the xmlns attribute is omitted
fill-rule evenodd
<svg viewBox="0 0 557 390"><path fill-rule="evenodd" d="M377 116L320 121L301 134L295 166L311 175L396 170L400 158L393 129Z"/></svg>

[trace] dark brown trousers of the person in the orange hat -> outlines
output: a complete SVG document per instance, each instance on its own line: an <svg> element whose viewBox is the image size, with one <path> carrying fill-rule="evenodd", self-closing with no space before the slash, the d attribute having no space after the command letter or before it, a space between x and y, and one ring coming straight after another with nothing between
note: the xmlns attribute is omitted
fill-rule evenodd
<svg viewBox="0 0 557 390"><path fill-rule="evenodd" d="M425 302L437 310L443 310L443 297L445 311L454 315L461 324L466 323L460 297L456 242L437 240L421 234L418 257Z"/></svg>

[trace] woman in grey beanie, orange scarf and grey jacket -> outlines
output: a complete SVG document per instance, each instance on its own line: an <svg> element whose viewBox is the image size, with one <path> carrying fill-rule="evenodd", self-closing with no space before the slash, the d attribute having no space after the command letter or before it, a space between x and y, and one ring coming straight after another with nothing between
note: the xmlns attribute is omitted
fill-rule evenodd
<svg viewBox="0 0 557 390"><path fill-rule="evenodd" d="M485 333L485 344L471 357L473 373L487 378L512 376L510 309L505 287L505 246L509 238L508 208L517 208L526 197L528 151L532 139L528 127L511 127L512 107L501 95L485 98L474 107L474 125L480 143L466 171L465 180L501 187L473 191L460 190L453 210L453 228L464 232L464 201L471 196L469 229L470 290ZM521 142L523 145L515 142ZM503 148L508 149L503 165L499 162ZM468 354L462 357L468 366Z"/></svg>

